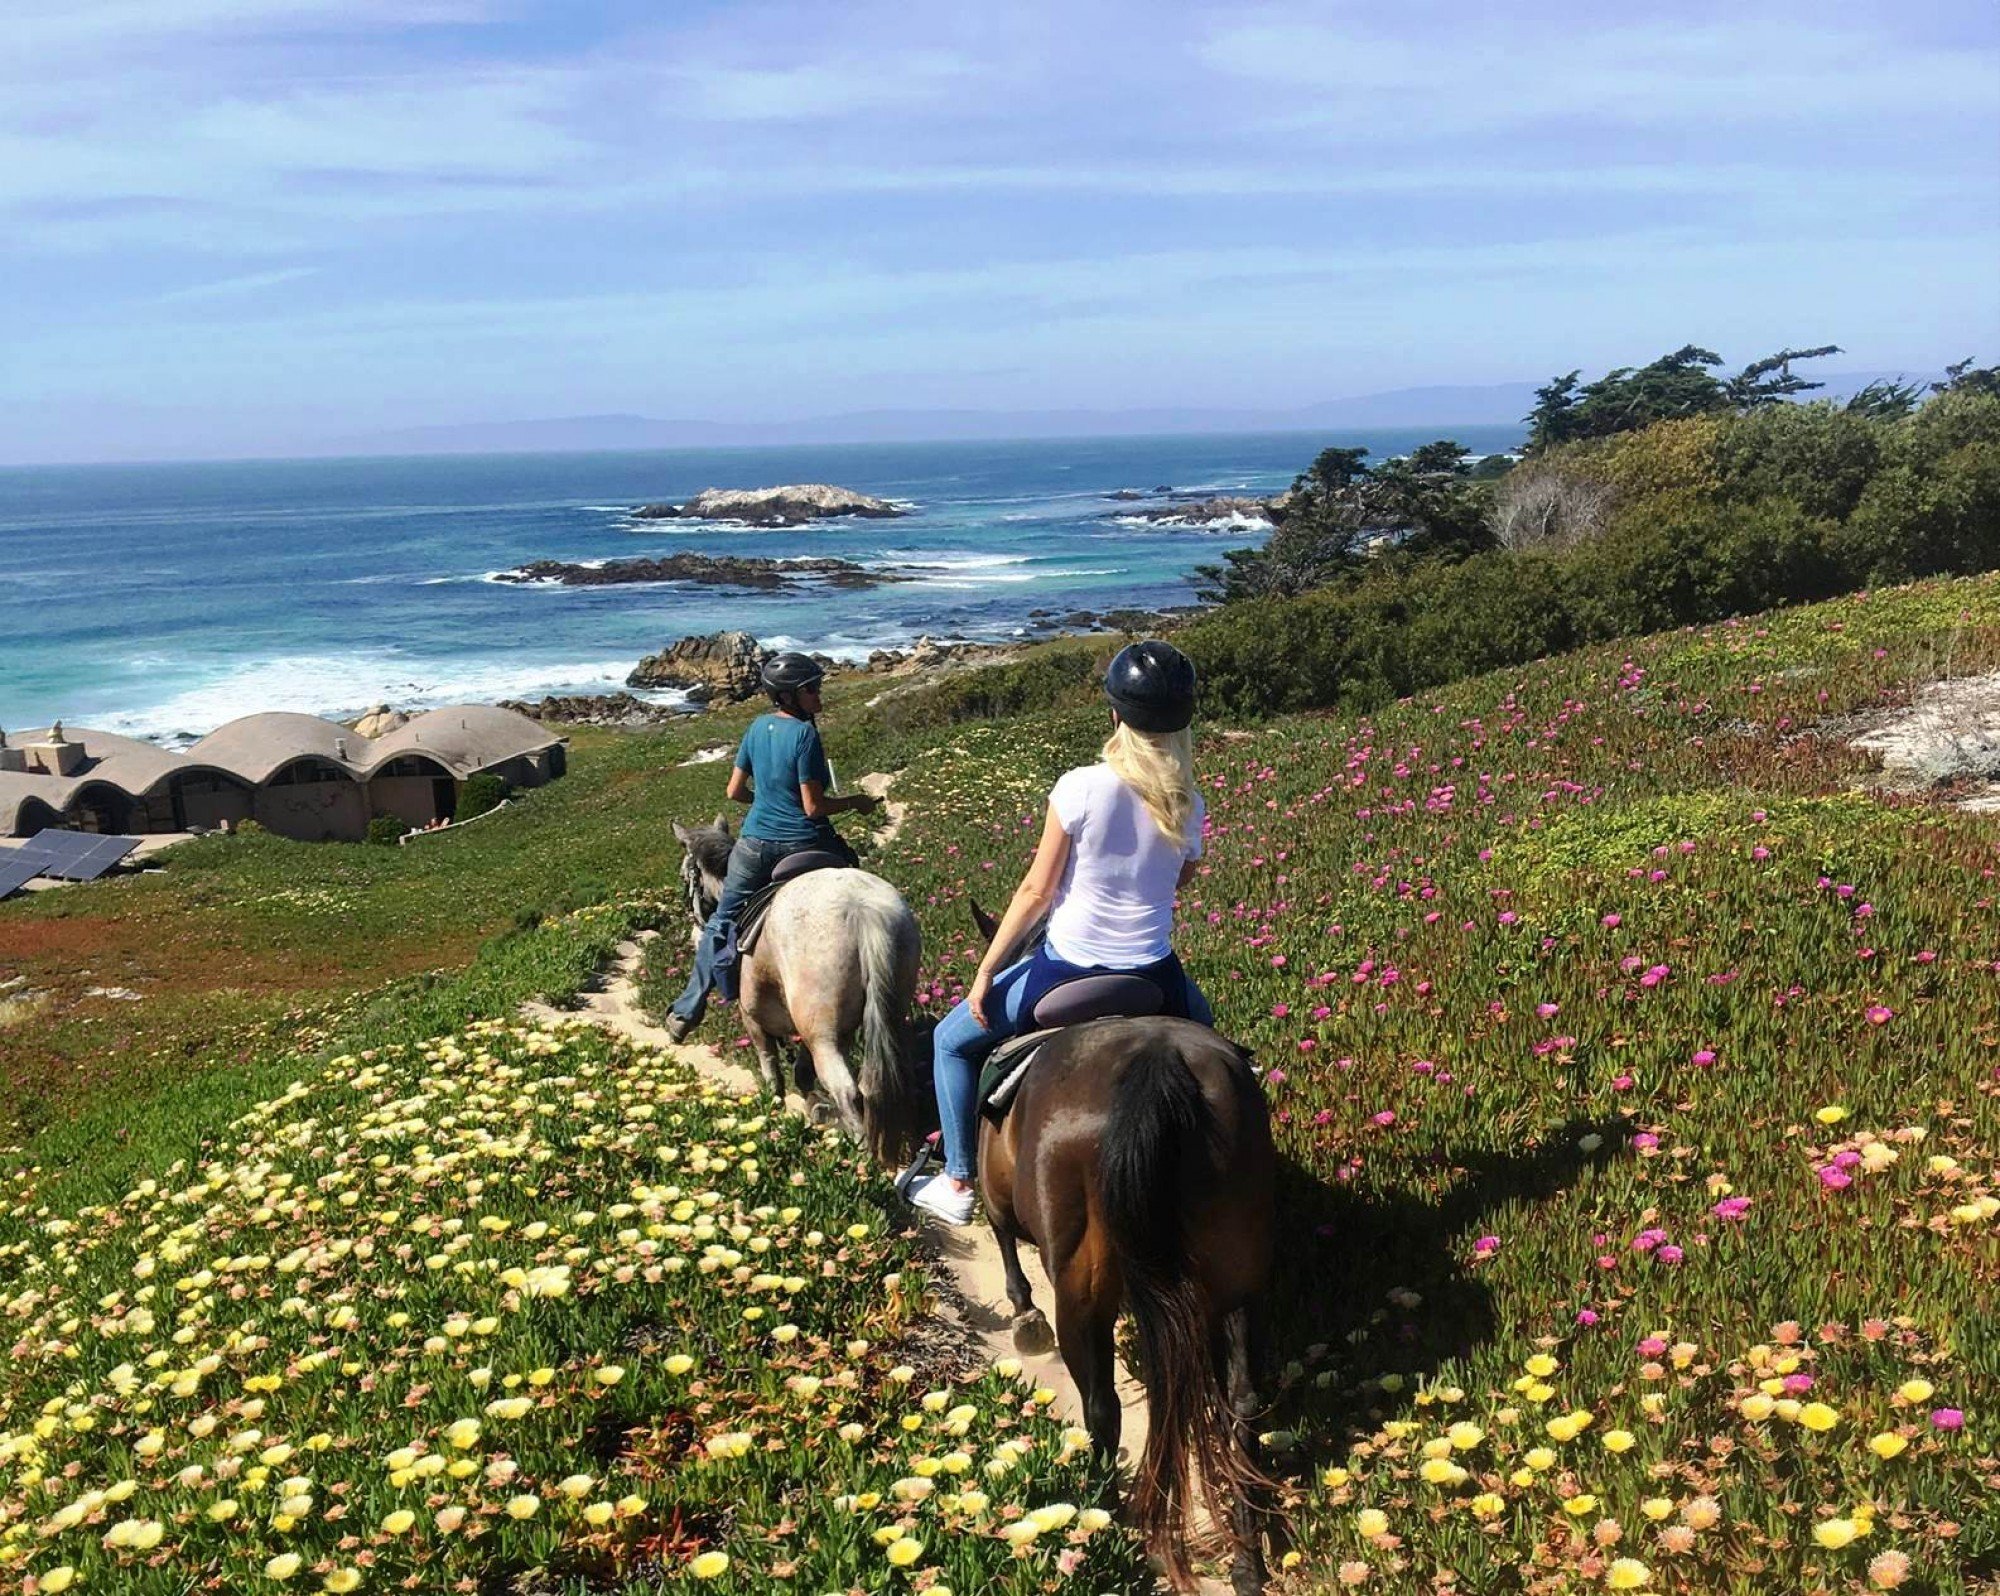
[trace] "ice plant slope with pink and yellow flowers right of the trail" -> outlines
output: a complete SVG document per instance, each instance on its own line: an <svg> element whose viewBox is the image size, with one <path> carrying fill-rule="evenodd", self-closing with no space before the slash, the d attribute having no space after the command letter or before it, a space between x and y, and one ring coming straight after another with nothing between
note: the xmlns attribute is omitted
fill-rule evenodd
<svg viewBox="0 0 2000 1596"><path fill-rule="evenodd" d="M1990 580L1206 728L1182 950L1288 1170L1300 1590L1970 1590L2000 1568L2000 824L1842 716ZM904 776L924 998L1098 716Z"/></svg>

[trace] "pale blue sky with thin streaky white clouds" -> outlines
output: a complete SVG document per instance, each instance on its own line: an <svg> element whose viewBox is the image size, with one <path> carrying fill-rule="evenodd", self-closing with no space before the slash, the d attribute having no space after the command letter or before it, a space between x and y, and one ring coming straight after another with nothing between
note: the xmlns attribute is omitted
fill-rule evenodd
<svg viewBox="0 0 2000 1596"><path fill-rule="evenodd" d="M1990 0L6 0L0 460L2000 360Z"/></svg>

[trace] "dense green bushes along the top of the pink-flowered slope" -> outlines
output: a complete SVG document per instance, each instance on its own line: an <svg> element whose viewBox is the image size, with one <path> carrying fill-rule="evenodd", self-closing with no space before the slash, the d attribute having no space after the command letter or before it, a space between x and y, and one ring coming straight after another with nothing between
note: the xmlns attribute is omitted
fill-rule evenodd
<svg viewBox="0 0 2000 1596"><path fill-rule="evenodd" d="M1496 552L1378 556L1178 636L1216 714L1372 708L1480 670L1918 576L2000 566L2000 398L1880 420L1700 414L1502 478Z"/></svg>

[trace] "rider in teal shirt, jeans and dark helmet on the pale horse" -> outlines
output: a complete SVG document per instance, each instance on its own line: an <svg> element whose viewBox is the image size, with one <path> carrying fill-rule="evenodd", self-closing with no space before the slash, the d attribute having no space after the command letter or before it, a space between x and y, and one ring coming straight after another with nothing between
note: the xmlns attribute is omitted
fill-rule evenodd
<svg viewBox="0 0 2000 1596"><path fill-rule="evenodd" d="M786 854L826 848L854 864L854 850L840 840L832 816L874 810L882 800L866 794L828 798L832 766L820 746L820 680L826 672L808 654L774 654L760 680L778 706L760 714L744 732L730 770L730 798L748 802L742 836L730 850L722 896L694 944L694 970L666 1016L666 1034L676 1042L702 1022L708 994L718 984L734 984L728 968L736 948L736 916L744 902L770 882ZM718 982L720 978L720 982ZM734 990L724 996L734 996Z"/></svg>

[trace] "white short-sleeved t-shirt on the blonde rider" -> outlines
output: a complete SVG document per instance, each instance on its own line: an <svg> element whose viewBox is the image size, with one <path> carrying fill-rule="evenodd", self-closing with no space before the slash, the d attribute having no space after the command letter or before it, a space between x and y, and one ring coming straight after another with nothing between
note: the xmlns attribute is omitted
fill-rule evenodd
<svg viewBox="0 0 2000 1596"><path fill-rule="evenodd" d="M1108 764L1070 770L1048 794L1070 862L1048 916L1048 950L1068 964L1136 970L1166 958L1180 866L1202 856L1202 798L1182 842L1160 832Z"/></svg>

